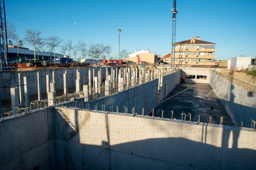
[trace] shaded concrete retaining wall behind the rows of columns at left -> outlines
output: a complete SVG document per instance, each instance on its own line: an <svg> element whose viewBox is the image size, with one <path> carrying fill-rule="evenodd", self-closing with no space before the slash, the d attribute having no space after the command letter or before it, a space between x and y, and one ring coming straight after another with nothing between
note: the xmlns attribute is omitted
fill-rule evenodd
<svg viewBox="0 0 256 170"><path fill-rule="evenodd" d="M98 71L101 68L101 77L104 78L106 75L106 67L96 67L95 71ZM67 80L68 87L76 86L76 68L67 68ZM87 68L78 68L80 72L81 85L83 84L83 77L88 77ZM111 70L111 67L109 67ZM49 70L40 70L41 79L42 79L42 92L46 92L46 74L52 75L53 69ZM65 69L54 69L55 71L55 88L56 90L63 89L63 73ZM6 86L17 86L19 84L18 73L22 73L23 76L27 75L29 80L29 95L37 94L37 72L38 71L8 71L0 72L0 87ZM93 67L91 67L91 78L93 77ZM51 78L52 79L52 78ZM0 100L11 99L10 88L0 88Z"/></svg>

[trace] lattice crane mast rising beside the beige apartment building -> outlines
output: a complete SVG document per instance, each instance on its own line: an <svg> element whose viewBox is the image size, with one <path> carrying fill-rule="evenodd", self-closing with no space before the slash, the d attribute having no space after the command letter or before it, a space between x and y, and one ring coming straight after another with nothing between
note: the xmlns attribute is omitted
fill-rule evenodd
<svg viewBox="0 0 256 170"><path fill-rule="evenodd" d="M176 0L173 0L173 8L172 8L172 15L173 15L173 33L172 33L172 60L171 60L171 68L174 68L174 61L175 61L175 36L176 36L176 14L178 10L176 9Z"/></svg>

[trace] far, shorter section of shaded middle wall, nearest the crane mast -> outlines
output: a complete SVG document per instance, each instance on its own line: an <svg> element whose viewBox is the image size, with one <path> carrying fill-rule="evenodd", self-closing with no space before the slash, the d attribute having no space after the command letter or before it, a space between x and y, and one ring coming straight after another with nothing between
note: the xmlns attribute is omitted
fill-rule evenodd
<svg viewBox="0 0 256 170"><path fill-rule="evenodd" d="M176 87L176 84L180 83L180 72L179 69L177 72L160 77L159 97L161 101Z"/></svg>

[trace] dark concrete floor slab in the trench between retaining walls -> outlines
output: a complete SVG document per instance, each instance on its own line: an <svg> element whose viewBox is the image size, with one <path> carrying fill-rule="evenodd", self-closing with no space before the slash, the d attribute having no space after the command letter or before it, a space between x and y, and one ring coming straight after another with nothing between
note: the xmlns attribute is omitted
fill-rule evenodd
<svg viewBox="0 0 256 170"><path fill-rule="evenodd" d="M211 109L211 106L214 109ZM223 124L231 125L229 115L218 101L210 84L207 83L178 84L162 102L158 103L154 110L154 116L161 117L162 110L164 118L171 118L173 110L173 118L181 119L180 114L183 111L186 114L191 113L191 121L197 121L200 114L200 122L208 123L210 115L211 123L219 124L220 117L223 116ZM189 120L189 116L186 117L186 120Z"/></svg>

